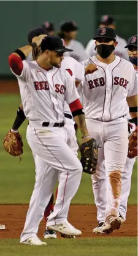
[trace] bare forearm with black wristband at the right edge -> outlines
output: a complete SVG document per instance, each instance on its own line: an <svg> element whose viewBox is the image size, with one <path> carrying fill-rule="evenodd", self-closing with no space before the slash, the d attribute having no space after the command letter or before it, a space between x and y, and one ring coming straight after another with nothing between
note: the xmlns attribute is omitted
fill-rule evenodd
<svg viewBox="0 0 138 256"><path fill-rule="evenodd" d="M137 117L137 94L131 97L127 97L127 102L129 105L129 114L132 118Z"/></svg>

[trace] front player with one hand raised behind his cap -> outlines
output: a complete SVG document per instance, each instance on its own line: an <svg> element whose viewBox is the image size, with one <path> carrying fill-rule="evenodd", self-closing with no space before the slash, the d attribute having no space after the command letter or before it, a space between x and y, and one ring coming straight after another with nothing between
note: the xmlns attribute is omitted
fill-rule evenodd
<svg viewBox="0 0 138 256"><path fill-rule="evenodd" d="M35 49L36 60L27 62L25 59L32 47ZM64 99L82 130L83 144L91 142L91 151L95 142L86 129L74 80L67 70L60 68L66 51L71 49L64 46L61 38L40 35L33 38L33 43L17 49L9 56L10 68L17 76L20 86L23 110L29 120L26 138L33 151L34 162L36 164L39 157L47 166L45 170L36 168L36 183L21 234L21 243L24 244L46 244L37 237L37 230L58 180L58 173L58 196L54 211L48 217L47 227L69 236L82 234L67 221L71 199L80 184L82 165L66 144ZM32 212L36 214L32 215Z"/></svg>

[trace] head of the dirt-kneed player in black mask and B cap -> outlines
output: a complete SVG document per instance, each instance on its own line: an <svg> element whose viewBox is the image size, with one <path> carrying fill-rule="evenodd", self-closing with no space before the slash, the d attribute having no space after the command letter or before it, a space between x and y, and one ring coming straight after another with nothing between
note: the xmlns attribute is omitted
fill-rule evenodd
<svg viewBox="0 0 138 256"><path fill-rule="evenodd" d="M112 28L99 28L96 37L93 39L96 40L95 50L98 52L98 56L107 59L111 54L113 55L117 41L115 31Z"/></svg>

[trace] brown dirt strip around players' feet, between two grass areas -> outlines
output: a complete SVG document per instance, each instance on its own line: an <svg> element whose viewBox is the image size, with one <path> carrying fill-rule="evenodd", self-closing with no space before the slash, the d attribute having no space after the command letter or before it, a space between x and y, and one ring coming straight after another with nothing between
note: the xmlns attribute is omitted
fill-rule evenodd
<svg viewBox="0 0 138 256"><path fill-rule="evenodd" d="M28 205L0 205L0 224L6 225L5 230L0 230L0 239L19 238L25 224ZM83 237L98 237L93 234L96 227L96 207L94 205L71 205L69 221L76 228L82 230ZM39 236L42 237L45 222L42 220L39 227ZM137 236L137 205L128 206L128 217L120 230L110 235L100 236ZM60 237L60 236L59 236Z"/></svg>

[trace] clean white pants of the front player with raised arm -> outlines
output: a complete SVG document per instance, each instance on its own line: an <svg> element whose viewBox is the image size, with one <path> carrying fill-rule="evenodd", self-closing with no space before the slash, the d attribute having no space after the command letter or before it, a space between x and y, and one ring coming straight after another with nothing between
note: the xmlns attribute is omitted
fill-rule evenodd
<svg viewBox="0 0 138 256"><path fill-rule="evenodd" d="M51 226L67 220L71 199L77 192L82 177L82 165L67 146L66 129L33 126L27 128L26 138L36 165L36 183L20 242L37 233L58 176L58 196L54 212L48 218L47 224Z"/></svg>

